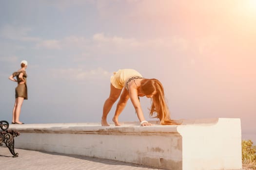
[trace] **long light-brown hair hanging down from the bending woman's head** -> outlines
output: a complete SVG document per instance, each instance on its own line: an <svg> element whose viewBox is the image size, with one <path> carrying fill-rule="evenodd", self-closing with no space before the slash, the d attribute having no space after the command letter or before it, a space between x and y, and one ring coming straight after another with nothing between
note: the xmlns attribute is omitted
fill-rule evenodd
<svg viewBox="0 0 256 170"><path fill-rule="evenodd" d="M141 89L145 95L152 94L156 91L156 94L153 95L153 102L149 113L152 118L158 118L161 125L177 124L170 118L170 112L165 102L163 85L159 80L144 79L141 81ZM157 116L153 117L154 113L157 113Z"/></svg>

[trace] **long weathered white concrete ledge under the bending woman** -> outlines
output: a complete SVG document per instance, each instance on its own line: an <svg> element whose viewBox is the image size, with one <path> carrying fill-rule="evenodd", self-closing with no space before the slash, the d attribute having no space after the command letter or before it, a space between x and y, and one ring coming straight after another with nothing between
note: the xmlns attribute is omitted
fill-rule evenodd
<svg viewBox="0 0 256 170"><path fill-rule="evenodd" d="M180 120L181 125L102 127L98 123L10 125L15 147L78 154L168 170L241 170L240 119ZM152 121L153 124L159 124Z"/></svg>

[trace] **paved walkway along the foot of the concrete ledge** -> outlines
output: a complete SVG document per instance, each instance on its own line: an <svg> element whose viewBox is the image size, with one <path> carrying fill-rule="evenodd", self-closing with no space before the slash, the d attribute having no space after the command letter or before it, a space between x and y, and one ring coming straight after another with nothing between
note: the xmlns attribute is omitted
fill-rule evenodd
<svg viewBox="0 0 256 170"><path fill-rule="evenodd" d="M158 170L147 166L87 156L0 147L0 170Z"/></svg>

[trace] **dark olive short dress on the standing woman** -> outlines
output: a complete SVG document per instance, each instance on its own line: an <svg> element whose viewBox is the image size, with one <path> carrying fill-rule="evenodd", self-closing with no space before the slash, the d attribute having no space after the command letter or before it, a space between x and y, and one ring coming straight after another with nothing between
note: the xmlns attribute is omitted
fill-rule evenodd
<svg viewBox="0 0 256 170"><path fill-rule="evenodd" d="M20 84L20 73L23 73L23 79L25 80L24 84ZM25 100L28 99L27 94L27 74L26 71L17 71L13 73L13 76L17 78L18 86L15 88L15 98L22 97Z"/></svg>

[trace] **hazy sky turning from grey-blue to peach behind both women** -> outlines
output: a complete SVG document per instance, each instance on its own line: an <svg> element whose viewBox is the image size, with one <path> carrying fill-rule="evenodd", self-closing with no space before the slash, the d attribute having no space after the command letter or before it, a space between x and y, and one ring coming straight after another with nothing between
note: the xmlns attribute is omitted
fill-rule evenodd
<svg viewBox="0 0 256 170"><path fill-rule="evenodd" d="M0 0L1 120L21 60L24 123L100 122L110 76L133 68L163 84L172 119L239 118L256 143L256 0ZM119 121L138 121L130 101Z"/></svg>

